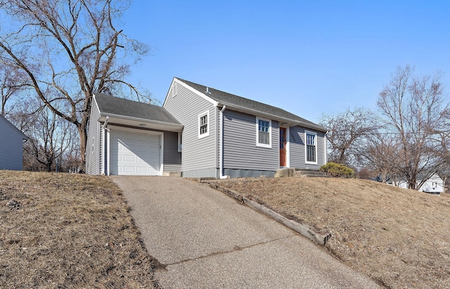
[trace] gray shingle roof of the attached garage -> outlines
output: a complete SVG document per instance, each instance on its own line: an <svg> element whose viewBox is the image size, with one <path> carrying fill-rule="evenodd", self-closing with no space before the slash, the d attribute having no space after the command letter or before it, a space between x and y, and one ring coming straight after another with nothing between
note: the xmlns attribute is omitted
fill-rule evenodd
<svg viewBox="0 0 450 289"><path fill-rule="evenodd" d="M95 97L101 115L123 115L143 120L180 124L165 108L158 105L139 103L106 94L95 94Z"/></svg>

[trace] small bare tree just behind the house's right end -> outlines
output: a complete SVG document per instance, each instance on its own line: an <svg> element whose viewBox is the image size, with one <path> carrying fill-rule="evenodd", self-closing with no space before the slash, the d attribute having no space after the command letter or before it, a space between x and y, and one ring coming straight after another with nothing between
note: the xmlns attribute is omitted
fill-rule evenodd
<svg viewBox="0 0 450 289"><path fill-rule="evenodd" d="M347 109L339 115L323 114L320 123L330 129L329 160L345 165L356 164L364 138L377 128L372 113L364 108Z"/></svg>

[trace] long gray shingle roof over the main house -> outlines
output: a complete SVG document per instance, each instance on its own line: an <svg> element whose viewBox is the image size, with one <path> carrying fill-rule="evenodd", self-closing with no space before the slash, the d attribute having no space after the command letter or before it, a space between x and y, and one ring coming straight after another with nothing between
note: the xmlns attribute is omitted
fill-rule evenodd
<svg viewBox="0 0 450 289"><path fill-rule="evenodd" d="M202 92L203 94L209 96L214 101L217 101L220 104L238 106L240 108L265 113L267 115L274 115L275 117L281 117L283 119L291 120L292 122L295 123L307 124L310 125L311 127L315 127L316 129L326 131L325 128L320 127L318 124L310 122L309 120L305 120L304 118L294 115L293 113L289 113L288 111L283 110L281 108L276 108L275 106L260 103L259 101L252 101L251 99L248 98L243 98L241 96L229 94L224 91L213 89L209 86L196 84L194 82L188 82L187 80L180 79L178 77L176 77L176 79L178 79L181 82L184 82L185 84L188 84L188 86L191 86L193 87L193 89ZM208 91L208 93L206 93L206 91Z"/></svg>

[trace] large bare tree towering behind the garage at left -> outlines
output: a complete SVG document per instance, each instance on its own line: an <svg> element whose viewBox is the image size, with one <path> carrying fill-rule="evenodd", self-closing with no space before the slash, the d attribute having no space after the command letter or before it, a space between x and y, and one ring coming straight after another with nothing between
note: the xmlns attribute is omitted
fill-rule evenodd
<svg viewBox="0 0 450 289"><path fill-rule="evenodd" d="M118 28L128 6L127 0L0 0L0 62L23 71L51 113L75 124L83 162L94 91L148 96L124 79L129 60L148 51Z"/></svg>

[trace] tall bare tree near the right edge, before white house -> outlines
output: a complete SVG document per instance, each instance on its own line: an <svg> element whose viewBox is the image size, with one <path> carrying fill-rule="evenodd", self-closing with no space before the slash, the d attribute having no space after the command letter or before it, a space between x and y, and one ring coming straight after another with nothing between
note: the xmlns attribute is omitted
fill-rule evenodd
<svg viewBox="0 0 450 289"><path fill-rule="evenodd" d="M399 139L397 171L409 188L420 188L444 163L437 153L442 145L436 131L449 105L443 93L439 75L416 77L409 65L398 68L380 92L377 104L384 127ZM417 185L419 174L425 177Z"/></svg>

